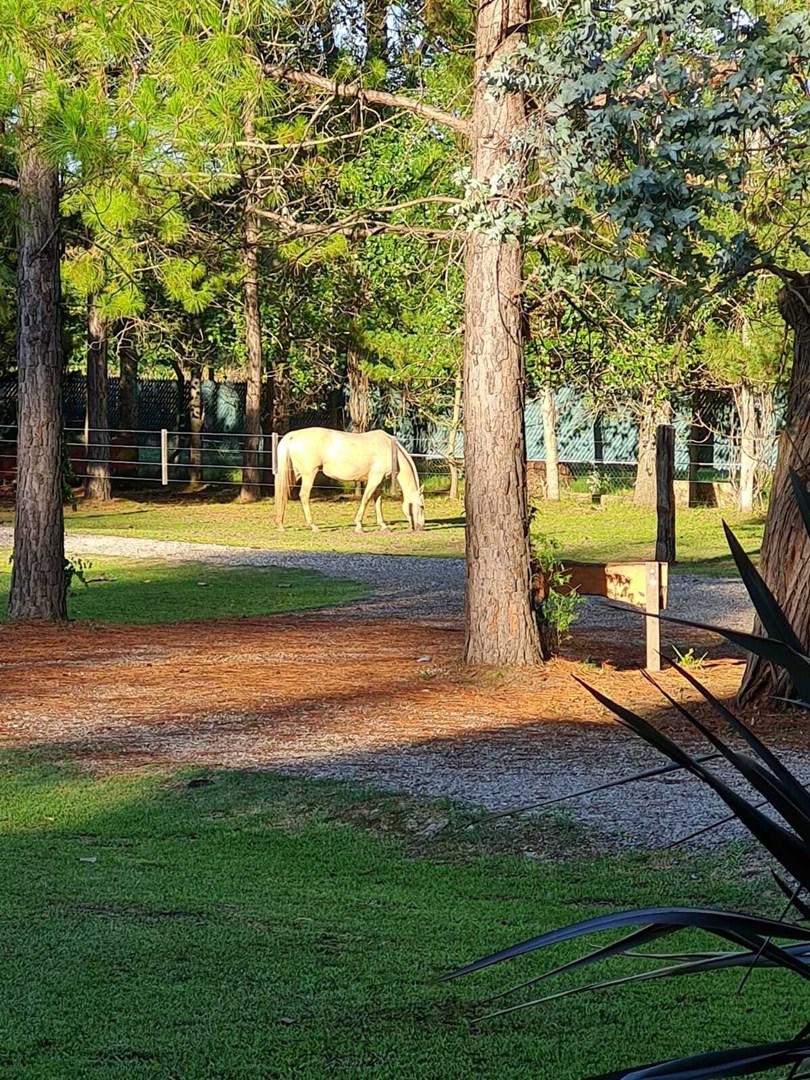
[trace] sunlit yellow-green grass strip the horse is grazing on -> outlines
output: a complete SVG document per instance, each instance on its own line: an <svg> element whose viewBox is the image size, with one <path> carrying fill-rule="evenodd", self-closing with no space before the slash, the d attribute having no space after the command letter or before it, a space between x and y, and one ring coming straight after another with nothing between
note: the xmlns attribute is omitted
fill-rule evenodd
<svg viewBox="0 0 810 1080"><path fill-rule="evenodd" d="M106 505L80 504L66 512L70 532L107 532L153 540L193 540L278 551L360 552L390 555L464 554L463 511L458 502L441 496L428 497L428 528L409 532L399 504L388 500L386 516L391 532L370 527L357 535L352 528L356 503L352 499L320 499L313 504L322 531L312 534L303 524L300 504L293 501L287 528L280 532L273 519L272 500L242 504L232 495L151 498L149 501L117 499ZM592 507L567 500L556 505L541 503L541 528L559 544L565 558L608 562L651 558L656 540L654 511L626 503ZM686 572L733 576L734 567L723 534L723 518L733 526L743 546L759 550L764 518L741 517L733 511L679 509L677 513L678 568ZM0 524L11 524L9 510ZM677 572L677 569L676 569Z"/></svg>

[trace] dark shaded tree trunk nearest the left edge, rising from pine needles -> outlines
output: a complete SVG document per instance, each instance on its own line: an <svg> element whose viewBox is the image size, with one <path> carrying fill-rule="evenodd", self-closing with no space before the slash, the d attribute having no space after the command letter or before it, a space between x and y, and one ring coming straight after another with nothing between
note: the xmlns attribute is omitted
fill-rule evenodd
<svg viewBox="0 0 810 1080"><path fill-rule="evenodd" d="M21 131L17 492L9 616L67 618L63 518L59 181Z"/></svg>

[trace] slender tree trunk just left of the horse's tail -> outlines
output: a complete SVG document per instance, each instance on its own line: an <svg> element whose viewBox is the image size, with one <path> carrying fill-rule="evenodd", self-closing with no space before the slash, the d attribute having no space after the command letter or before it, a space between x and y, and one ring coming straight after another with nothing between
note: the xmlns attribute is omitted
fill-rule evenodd
<svg viewBox="0 0 810 1080"><path fill-rule="evenodd" d="M244 121L245 139L254 138L253 113ZM259 443L261 442L261 313L259 311L259 219L256 216L258 183L253 164L245 168L244 243L242 246L243 298L245 312L245 345L247 372L245 386L245 450L242 463L242 502L256 502L261 498L261 469Z"/></svg>

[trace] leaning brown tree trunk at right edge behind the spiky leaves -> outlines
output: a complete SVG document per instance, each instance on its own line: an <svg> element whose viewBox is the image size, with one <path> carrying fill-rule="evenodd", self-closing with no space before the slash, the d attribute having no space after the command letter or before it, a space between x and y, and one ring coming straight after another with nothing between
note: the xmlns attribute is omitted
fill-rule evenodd
<svg viewBox="0 0 810 1080"><path fill-rule="evenodd" d="M785 285L779 297L782 318L794 332L793 370L785 424L779 440L759 571L782 606L805 651L810 652L810 536L794 498L789 470L810 488L810 274ZM755 633L762 633L759 621ZM748 660L740 701L772 704L791 697L791 679L757 657Z"/></svg>

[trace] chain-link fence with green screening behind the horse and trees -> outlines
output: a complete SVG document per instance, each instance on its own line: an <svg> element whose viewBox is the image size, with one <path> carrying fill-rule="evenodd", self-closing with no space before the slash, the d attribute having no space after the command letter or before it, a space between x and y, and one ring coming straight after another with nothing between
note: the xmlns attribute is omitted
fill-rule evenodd
<svg viewBox="0 0 810 1080"><path fill-rule="evenodd" d="M244 433L244 383L202 383L203 422L194 438L188 428L188 384L167 379L138 384L138 429L119 431L119 383L109 381L110 467L124 485L160 481L161 431L167 432L170 485L241 484L248 436ZM639 415L631 407L595 415L583 395L571 389L556 392L557 453L561 483L573 495L627 497L637 473ZM186 410L184 413L184 409ZM77 475L84 460L84 378L69 375L64 391L66 437ZM676 432L676 486L690 492L703 489L707 501L732 501L747 458L753 457L757 494L767 491L775 462L777 431L783 411L780 397L760 396L741 402L735 393L701 391L671 403ZM13 442L16 382L0 381L0 483L13 483ZM753 429L743 431L741 416L753 416ZM178 423L178 419L183 423ZM339 426L340 418L313 408L291 417L289 427ZM386 424L414 456L429 492L442 494L463 478L463 436L447 424L420 422L402 416ZM186 430L178 430L178 429ZM753 433L752 433L753 431ZM257 449L261 484L272 487L271 435ZM545 446L539 400L526 406L526 443L534 494L544 486ZM197 445L199 444L199 445ZM748 461L751 465L751 461ZM82 467L83 469L83 467ZM455 480L454 480L455 474ZM325 480L324 489L339 489ZM691 496L690 496L691 498Z"/></svg>

